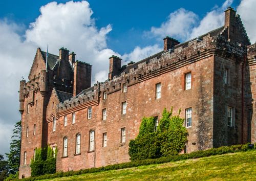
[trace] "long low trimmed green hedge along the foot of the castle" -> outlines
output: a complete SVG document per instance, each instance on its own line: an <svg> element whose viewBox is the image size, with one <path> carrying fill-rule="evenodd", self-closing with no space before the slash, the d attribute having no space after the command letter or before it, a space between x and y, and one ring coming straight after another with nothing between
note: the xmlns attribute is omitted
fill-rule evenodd
<svg viewBox="0 0 256 181"><path fill-rule="evenodd" d="M126 163L122 163L122 164L108 165L108 166L99 167L99 168L82 169L82 170L78 170L78 171L57 172L54 174L47 174L47 175L41 175L41 176L37 176L37 177L24 178L22 180L49 179L49 178L57 178L57 177L63 177L63 176L80 175L80 174L84 174L84 173L95 173L95 172L108 171L108 170L117 170L117 169L123 169L123 168L138 167L138 166L142 166L142 165L163 164L163 163L167 163L167 162L175 162L175 161L186 160L186 159L197 159L197 158L205 157L205 156L248 151L248 150L256 148L256 143L254 144L254 148L249 147L248 145L249 145L249 143L245 144L245 145L223 146L223 147L219 147L219 148L211 148L208 150L195 151L195 152L191 152L191 153L179 154L179 155L168 156L168 157L161 157L159 159L147 159L147 160L141 160L141 161L135 161L135 162L126 162Z"/></svg>

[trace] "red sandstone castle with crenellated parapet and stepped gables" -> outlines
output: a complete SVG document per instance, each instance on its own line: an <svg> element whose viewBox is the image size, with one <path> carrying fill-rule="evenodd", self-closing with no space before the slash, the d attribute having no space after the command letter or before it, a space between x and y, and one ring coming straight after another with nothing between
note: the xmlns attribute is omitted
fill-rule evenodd
<svg viewBox="0 0 256 181"><path fill-rule="evenodd" d="M254 22L252 22L254 23ZM183 152L256 142L256 44L239 15L190 41L165 37L163 51L121 66L110 57L109 77L91 86L92 65L75 53L37 49L29 81L20 81L22 147L19 178L29 177L35 148L58 147L56 171L129 161L129 141L141 119L181 108L189 133Z"/></svg>

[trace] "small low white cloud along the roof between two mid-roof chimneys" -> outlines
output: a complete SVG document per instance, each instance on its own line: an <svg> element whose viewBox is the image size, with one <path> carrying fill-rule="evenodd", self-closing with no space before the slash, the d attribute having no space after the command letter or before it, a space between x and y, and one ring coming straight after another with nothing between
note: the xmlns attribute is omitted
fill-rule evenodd
<svg viewBox="0 0 256 181"><path fill-rule="evenodd" d="M124 62L137 62L139 60L142 60L143 58L151 56L160 51L162 51L162 48L160 48L157 44L155 44L154 46L147 46L144 48L136 47L131 53L124 54L122 56L122 59Z"/></svg>

